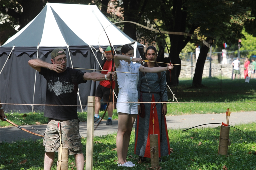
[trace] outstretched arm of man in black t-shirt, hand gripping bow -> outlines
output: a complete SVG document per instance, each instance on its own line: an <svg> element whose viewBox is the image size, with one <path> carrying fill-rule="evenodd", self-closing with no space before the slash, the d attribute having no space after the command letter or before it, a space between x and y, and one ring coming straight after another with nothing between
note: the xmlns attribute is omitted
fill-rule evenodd
<svg viewBox="0 0 256 170"><path fill-rule="evenodd" d="M116 80L116 73L113 73L113 72L108 72L107 74L107 79L109 79L110 75L112 74L112 79L113 80ZM101 74L101 73L98 73L98 72L92 72L92 73L84 73L83 75L83 80L94 80L94 81L102 81L102 80L106 80L105 79L105 75L106 74Z"/></svg>

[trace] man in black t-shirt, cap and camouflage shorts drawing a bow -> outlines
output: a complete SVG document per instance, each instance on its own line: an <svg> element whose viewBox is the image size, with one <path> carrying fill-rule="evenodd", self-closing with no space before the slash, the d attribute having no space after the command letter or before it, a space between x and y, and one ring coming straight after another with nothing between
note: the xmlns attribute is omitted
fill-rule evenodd
<svg viewBox="0 0 256 170"><path fill-rule="evenodd" d="M40 59L28 61L29 66L39 71L47 81L46 102L59 106L45 106L44 116L48 117L43 146L45 147L44 169L51 169L55 152L60 147L58 122L61 122L62 144L69 148L69 154L74 155L77 169L84 168L84 156L82 153L81 136L79 134L79 119L77 116L78 84L87 80L109 80L111 74L113 80L115 73L101 74L97 72L87 73L78 69L67 67L66 53L61 48L55 48L51 52L51 62Z"/></svg>

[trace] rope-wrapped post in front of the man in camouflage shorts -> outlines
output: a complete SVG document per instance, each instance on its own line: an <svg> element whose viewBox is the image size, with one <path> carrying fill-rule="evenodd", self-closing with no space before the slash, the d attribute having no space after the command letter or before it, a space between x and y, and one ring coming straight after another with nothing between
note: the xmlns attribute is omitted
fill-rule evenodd
<svg viewBox="0 0 256 170"><path fill-rule="evenodd" d="M68 148L62 148L62 152L60 151L61 148L59 148L59 156L57 161L57 170L68 170ZM61 152L61 153L60 153ZM59 167L60 165L60 167Z"/></svg>

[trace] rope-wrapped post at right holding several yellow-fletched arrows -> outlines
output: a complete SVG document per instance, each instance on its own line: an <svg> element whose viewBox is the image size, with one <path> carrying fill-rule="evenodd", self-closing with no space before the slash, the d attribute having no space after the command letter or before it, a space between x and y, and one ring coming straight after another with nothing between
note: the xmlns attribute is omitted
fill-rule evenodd
<svg viewBox="0 0 256 170"><path fill-rule="evenodd" d="M229 145L229 129L230 126L220 127L220 141L218 154L227 155L228 154L228 145Z"/></svg>

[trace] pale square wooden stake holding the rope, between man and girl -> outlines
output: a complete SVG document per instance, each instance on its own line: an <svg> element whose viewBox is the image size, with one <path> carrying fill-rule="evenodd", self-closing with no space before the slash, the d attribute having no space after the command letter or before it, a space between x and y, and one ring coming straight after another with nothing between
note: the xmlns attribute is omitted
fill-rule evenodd
<svg viewBox="0 0 256 170"><path fill-rule="evenodd" d="M95 102L94 96L88 96L86 163L85 163L86 170L93 169L92 162L93 162L94 102Z"/></svg>

